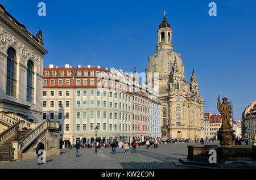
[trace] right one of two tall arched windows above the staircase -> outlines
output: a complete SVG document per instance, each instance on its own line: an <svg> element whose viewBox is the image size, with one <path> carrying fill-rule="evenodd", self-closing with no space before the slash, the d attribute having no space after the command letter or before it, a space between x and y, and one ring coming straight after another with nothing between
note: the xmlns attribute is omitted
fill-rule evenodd
<svg viewBox="0 0 256 180"><path fill-rule="evenodd" d="M27 62L27 101L34 100L34 66L32 61Z"/></svg>

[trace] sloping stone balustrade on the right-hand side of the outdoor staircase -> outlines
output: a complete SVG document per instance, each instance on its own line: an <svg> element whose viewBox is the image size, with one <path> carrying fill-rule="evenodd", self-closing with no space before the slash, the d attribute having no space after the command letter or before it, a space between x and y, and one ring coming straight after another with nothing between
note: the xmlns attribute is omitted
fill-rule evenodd
<svg viewBox="0 0 256 180"><path fill-rule="evenodd" d="M20 142L20 149L26 148L32 141L35 140L43 131L47 129L59 130L59 122L49 121L46 119L38 126L35 127L26 137L24 137Z"/></svg>

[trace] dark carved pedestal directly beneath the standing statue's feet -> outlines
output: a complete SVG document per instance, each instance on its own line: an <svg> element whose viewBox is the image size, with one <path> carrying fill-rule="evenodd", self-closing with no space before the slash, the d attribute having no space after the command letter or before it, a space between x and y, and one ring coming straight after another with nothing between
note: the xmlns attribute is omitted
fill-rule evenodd
<svg viewBox="0 0 256 180"><path fill-rule="evenodd" d="M234 130L219 130L217 131L217 138L220 140L221 147L231 147L232 146L232 140L236 138L236 135L234 134Z"/></svg>

